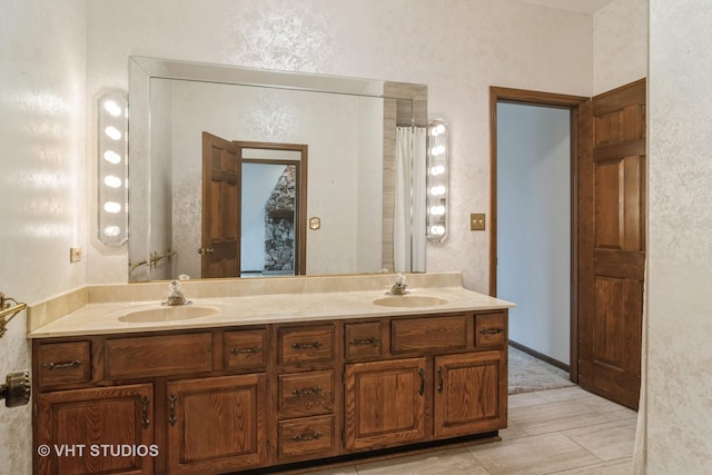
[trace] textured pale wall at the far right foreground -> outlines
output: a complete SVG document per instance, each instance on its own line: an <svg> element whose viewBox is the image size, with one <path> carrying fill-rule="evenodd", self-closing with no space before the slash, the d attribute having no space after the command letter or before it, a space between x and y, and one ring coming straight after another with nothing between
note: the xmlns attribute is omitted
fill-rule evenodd
<svg viewBox="0 0 712 475"><path fill-rule="evenodd" d="M712 4L650 6L647 473L712 473Z"/></svg>

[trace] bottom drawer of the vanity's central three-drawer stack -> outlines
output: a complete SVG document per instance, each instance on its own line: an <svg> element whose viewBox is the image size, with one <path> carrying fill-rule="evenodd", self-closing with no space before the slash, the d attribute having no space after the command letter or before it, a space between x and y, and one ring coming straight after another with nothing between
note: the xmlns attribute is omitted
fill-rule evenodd
<svg viewBox="0 0 712 475"><path fill-rule="evenodd" d="M335 432L334 416L281 420L277 444L279 458L300 458L334 452Z"/></svg>

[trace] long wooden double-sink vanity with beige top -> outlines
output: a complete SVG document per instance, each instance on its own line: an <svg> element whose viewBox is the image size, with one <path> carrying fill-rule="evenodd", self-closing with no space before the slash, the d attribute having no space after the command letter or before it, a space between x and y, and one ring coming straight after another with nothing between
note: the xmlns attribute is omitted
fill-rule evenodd
<svg viewBox="0 0 712 475"><path fill-rule="evenodd" d="M309 279L180 315L89 303L30 331L34 472L286 472L498 439L512 304L448 285L384 296L385 277L305 291Z"/></svg>

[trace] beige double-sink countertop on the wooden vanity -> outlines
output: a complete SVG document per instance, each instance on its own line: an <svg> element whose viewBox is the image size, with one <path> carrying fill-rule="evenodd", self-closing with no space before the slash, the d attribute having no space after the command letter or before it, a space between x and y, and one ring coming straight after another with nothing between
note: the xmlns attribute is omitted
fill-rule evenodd
<svg viewBox="0 0 712 475"><path fill-rule="evenodd" d="M428 279L428 284L437 285L437 280ZM452 278L445 279L445 284L452 284ZM164 283L161 288L165 285ZM206 294L205 291L192 294L199 295L199 298L191 298L191 294L185 291L186 297L191 300L187 307L161 306L160 299L92 303L89 298L86 305L79 306L73 311L42 323L34 329L29 328L27 336L28 338L49 338L126 334L345 318L432 315L502 309L514 306L512 303L452 285L408 287L406 300L414 297L435 297L445 300L444 303L438 301L438 305L380 306L374 304L374 300L387 297L383 286L383 277L373 287L375 288L354 291L259 293L258 295L240 296L204 297L200 294ZM180 311L201 311L204 309L210 311L210 315L188 319L180 318ZM159 316L158 320L151 321L122 321L122 318L127 316L129 319L131 315L138 316L136 311L141 310L165 313L168 317Z"/></svg>

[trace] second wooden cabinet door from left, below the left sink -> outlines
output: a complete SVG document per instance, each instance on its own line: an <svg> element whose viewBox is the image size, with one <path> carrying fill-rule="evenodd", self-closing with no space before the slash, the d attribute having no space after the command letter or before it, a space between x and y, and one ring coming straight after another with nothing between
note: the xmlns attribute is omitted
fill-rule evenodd
<svg viewBox="0 0 712 475"><path fill-rule="evenodd" d="M208 474L267 462L265 373L168 383L168 472Z"/></svg>

